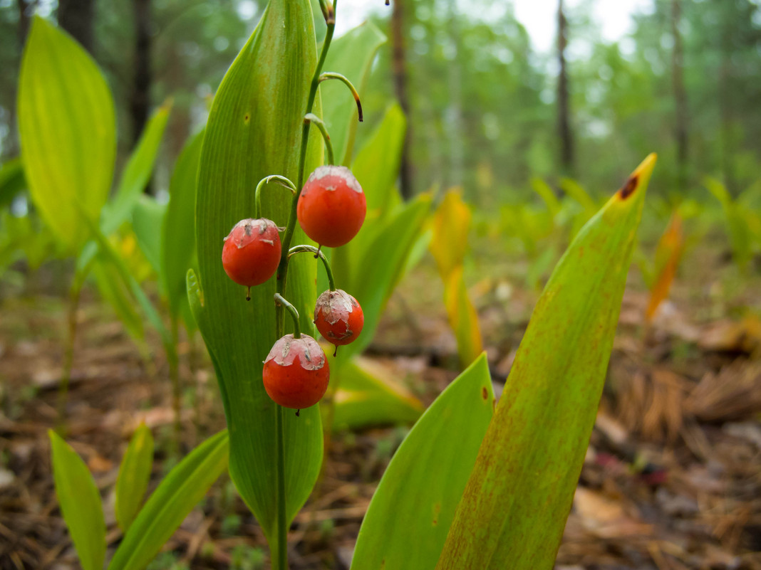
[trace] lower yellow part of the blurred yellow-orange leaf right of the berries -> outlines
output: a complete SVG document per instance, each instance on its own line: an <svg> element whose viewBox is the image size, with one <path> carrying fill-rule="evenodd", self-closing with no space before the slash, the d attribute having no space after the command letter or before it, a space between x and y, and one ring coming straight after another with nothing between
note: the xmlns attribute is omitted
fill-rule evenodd
<svg viewBox="0 0 761 570"><path fill-rule="evenodd" d="M447 308L449 325L457 338L457 353L460 365L468 366L483 350L481 328L478 323L478 313L470 301L463 268L458 265L444 279L444 306Z"/></svg>

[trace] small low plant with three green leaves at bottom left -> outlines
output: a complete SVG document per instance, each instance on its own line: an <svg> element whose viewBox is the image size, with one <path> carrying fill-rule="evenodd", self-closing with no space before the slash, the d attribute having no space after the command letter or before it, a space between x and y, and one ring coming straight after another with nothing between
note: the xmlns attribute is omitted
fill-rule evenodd
<svg viewBox="0 0 761 570"><path fill-rule="evenodd" d="M106 524L100 492L84 461L49 431L61 512L83 570L102 570ZM228 464L228 432L207 439L180 461L142 505L151 475L153 439L140 426L129 442L116 480L116 519L124 537L108 570L144 570ZM141 508L142 505L142 508Z"/></svg>

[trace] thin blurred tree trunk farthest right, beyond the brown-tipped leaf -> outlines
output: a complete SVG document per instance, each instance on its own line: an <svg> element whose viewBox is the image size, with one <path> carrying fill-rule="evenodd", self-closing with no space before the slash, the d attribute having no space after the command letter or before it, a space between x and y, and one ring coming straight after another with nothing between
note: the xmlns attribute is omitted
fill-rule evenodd
<svg viewBox="0 0 761 570"><path fill-rule="evenodd" d="M671 78L673 83L673 102L675 112L674 134L677 139L677 190L684 195L687 190L688 147L688 113L687 93L684 87L684 49L679 24L682 18L682 0L671 0L671 35L673 51L671 52Z"/></svg>

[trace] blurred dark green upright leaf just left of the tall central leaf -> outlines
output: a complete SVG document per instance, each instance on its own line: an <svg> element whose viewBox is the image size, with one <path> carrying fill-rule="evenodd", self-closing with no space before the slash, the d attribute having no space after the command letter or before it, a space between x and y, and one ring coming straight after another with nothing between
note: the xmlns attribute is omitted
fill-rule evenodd
<svg viewBox="0 0 761 570"><path fill-rule="evenodd" d="M180 315L186 302L185 277L196 254L196 178L203 131L183 147L169 183L169 206L161 228L161 277L172 315Z"/></svg>

